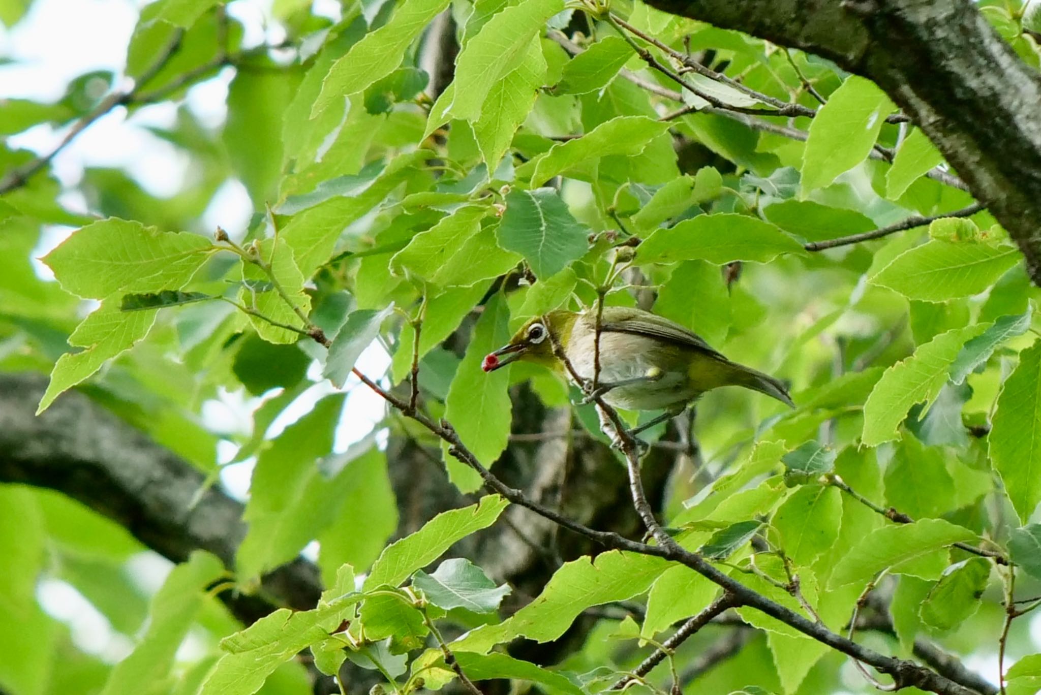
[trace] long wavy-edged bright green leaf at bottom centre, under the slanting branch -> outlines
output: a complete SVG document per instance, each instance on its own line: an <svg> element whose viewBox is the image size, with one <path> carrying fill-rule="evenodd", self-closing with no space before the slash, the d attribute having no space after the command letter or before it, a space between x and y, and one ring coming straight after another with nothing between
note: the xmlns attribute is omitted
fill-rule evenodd
<svg viewBox="0 0 1041 695"><path fill-rule="evenodd" d="M595 559L564 563L532 602L498 625L485 625L452 644L461 651L486 652L517 637L551 642L563 635L587 608L642 594L668 563L634 552L608 550Z"/></svg>

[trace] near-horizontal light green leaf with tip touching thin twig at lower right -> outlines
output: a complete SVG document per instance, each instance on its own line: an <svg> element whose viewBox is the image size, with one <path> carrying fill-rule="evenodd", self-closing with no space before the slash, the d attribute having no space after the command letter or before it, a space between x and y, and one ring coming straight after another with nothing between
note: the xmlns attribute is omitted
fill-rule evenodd
<svg viewBox="0 0 1041 695"><path fill-rule="evenodd" d="M953 543L976 539L968 529L943 519L921 519L914 523L883 526L865 536L839 561L831 588L866 583L884 569L920 559Z"/></svg>

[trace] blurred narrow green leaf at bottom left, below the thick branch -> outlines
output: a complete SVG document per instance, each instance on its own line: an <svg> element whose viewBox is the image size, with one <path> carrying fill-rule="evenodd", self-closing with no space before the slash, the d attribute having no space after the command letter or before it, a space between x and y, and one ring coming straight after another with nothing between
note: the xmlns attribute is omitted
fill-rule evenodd
<svg viewBox="0 0 1041 695"><path fill-rule="evenodd" d="M170 675L174 654L202 610L207 586L223 572L221 561L202 550L174 567L152 598L148 632L112 669L102 695L146 692Z"/></svg>

